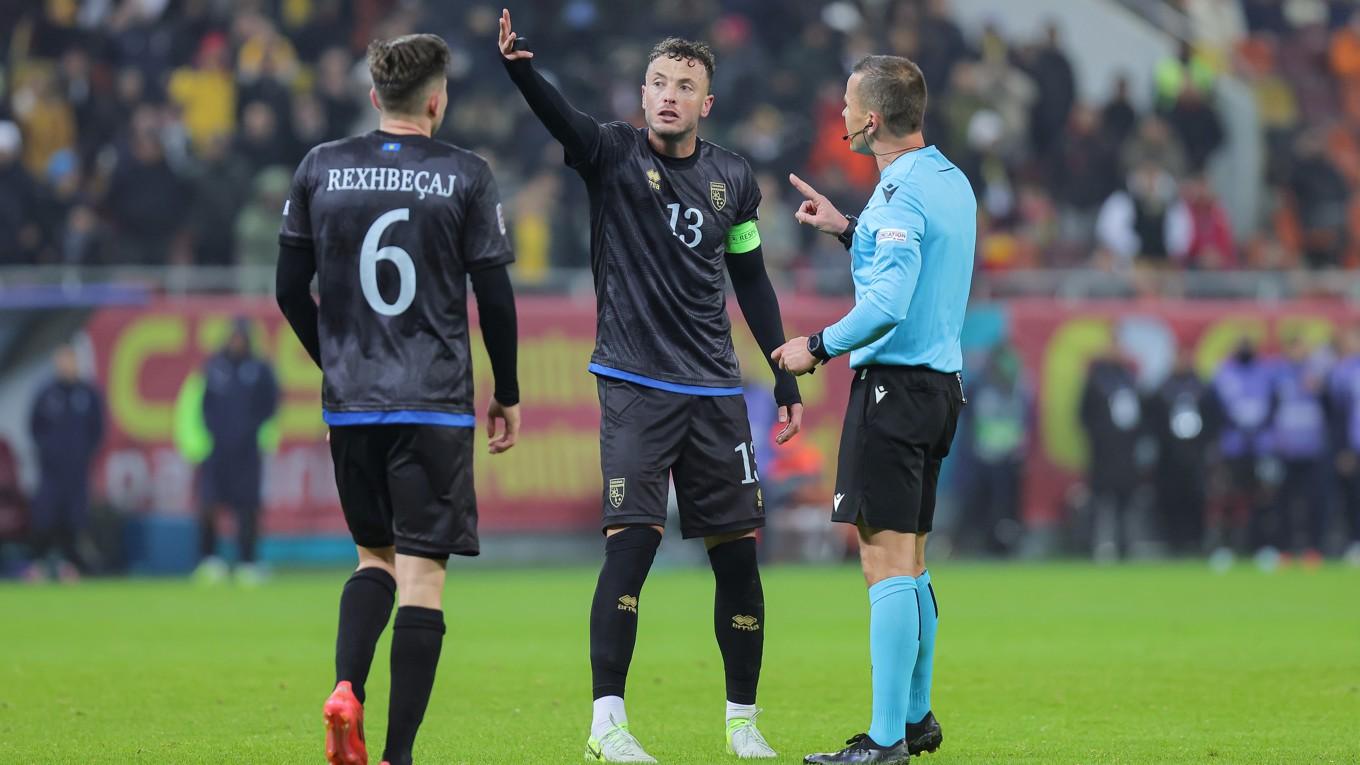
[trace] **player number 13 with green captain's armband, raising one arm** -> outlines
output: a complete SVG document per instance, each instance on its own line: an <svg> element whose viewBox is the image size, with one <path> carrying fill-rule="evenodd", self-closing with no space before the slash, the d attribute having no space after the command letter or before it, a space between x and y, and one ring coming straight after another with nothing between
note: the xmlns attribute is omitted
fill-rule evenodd
<svg viewBox="0 0 1360 765"><path fill-rule="evenodd" d="M601 125L574 109L515 41L503 11L499 45L510 79L590 196L597 321L589 369L600 395L607 536L590 607L594 719L586 757L656 762L628 731L623 694L639 596L666 520L668 476L681 536L702 536L713 564L728 751L775 757L755 726L766 628L755 530L764 525L764 509L724 267L766 353L783 342L783 325L760 252L755 176L741 157L698 136L713 108L713 53L675 38L651 50L639 129ZM775 370L775 403L782 444L802 421L792 374Z"/></svg>

